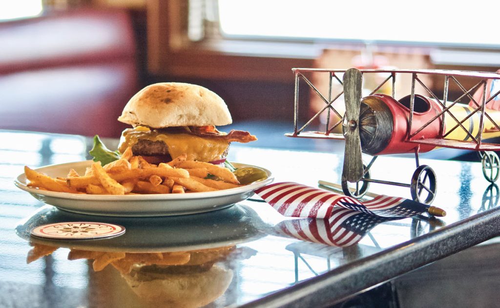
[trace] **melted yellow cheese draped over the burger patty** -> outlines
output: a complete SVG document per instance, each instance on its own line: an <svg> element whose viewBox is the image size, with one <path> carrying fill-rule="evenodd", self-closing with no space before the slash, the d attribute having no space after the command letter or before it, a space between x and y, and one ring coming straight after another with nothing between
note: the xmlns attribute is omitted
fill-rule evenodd
<svg viewBox="0 0 500 308"><path fill-rule="evenodd" d="M219 159L229 146L229 142L224 139L199 137L187 133L158 132L137 126L123 130L118 150L123 152L128 146L132 147L137 143L139 139L165 142L172 158L186 153L187 160L199 161Z"/></svg>

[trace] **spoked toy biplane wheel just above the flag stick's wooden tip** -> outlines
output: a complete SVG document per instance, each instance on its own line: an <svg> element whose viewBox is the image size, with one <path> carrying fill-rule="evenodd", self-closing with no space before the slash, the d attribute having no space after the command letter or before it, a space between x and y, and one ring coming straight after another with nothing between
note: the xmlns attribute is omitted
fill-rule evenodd
<svg viewBox="0 0 500 308"><path fill-rule="evenodd" d="M436 174L428 165L422 164L411 176L410 191L413 201L430 204L437 190Z"/></svg>

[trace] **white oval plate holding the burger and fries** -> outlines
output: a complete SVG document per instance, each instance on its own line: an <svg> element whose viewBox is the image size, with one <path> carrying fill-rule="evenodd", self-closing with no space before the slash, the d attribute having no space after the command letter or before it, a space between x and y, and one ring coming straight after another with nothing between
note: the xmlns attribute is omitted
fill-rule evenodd
<svg viewBox="0 0 500 308"><path fill-rule="evenodd" d="M54 164L37 168L36 171L52 177L64 177L73 168L83 174L91 162L85 160ZM233 165L236 168L252 166L236 162ZM72 212L104 216L166 216L216 210L243 201L253 195L253 190L274 179L269 170L263 170L268 177L262 181L231 189L183 194L95 195L39 190L26 186L24 173L17 176L14 184L42 202Z"/></svg>

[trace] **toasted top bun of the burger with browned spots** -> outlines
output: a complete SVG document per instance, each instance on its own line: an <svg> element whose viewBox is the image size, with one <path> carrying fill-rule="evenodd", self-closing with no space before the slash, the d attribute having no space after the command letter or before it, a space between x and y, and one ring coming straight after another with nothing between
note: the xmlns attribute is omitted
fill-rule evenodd
<svg viewBox="0 0 500 308"><path fill-rule="evenodd" d="M202 86L180 82L144 87L130 98L118 121L151 128L232 123L220 96Z"/></svg>

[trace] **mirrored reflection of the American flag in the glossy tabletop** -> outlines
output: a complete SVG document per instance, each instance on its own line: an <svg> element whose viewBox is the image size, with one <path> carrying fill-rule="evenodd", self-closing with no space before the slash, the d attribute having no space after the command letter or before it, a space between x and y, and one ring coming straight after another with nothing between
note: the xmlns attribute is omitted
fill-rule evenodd
<svg viewBox="0 0 500 308"><path fill-rule="evenodd" d="M392 219L335 207L327 219L284 220L274 228L281 234L301 240L345 247L357 243L376 224Z"/></svg>

